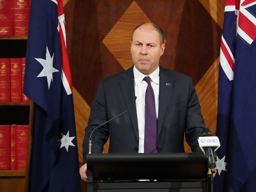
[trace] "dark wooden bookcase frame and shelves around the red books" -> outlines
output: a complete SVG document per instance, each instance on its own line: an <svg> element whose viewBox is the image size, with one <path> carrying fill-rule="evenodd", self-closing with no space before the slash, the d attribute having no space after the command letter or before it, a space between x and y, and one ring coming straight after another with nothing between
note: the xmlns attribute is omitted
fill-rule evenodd
<svg viewBox="0 0 256 192"><path fill-rule="evenodd" d="M26 57L27 37L1 37L0 58ZM28 191L34 103L0 103L0 125L29 125L26 170L0 170L0 191Z"/></svg>

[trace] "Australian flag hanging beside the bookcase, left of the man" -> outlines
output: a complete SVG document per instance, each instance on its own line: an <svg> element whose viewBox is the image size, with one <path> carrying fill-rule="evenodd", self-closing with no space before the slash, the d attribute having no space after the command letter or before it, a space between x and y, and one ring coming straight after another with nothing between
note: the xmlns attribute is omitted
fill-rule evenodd
<svg viewBox="0 0 256 192"><path fill-rule="evenodd" d="M35 103L30 191L78 192L80 176L62 0L32 0L24 94Z"/></svg>

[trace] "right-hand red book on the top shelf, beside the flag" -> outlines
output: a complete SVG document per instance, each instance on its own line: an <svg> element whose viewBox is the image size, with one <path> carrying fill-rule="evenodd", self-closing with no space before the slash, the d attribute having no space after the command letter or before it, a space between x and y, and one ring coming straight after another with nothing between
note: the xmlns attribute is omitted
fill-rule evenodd
<svg viewBox="0 0 256 192"><path fill-rule="evenodd" d="M13 0L14 36L28 36L30 0Z"/></svg>

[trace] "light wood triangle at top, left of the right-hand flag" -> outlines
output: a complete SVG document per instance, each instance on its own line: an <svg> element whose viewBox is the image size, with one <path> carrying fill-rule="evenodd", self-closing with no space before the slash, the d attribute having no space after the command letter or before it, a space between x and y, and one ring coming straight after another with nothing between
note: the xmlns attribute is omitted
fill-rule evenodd
<svg viewBox="0 0 256 192"><path fill-rule="evenodd" d="M225 0L199 0L213 20L223 28Z"/></svg>

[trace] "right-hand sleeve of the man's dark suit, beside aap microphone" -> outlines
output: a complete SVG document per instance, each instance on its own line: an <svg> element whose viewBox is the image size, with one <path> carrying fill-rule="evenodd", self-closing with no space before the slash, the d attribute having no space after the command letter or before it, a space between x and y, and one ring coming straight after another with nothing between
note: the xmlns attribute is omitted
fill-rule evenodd
<svg viewBox="0 0 256 192"><path fill-rule="evenodd" d="M205 124L201 114L198 96L191 78L189 89L185 137L187 143L191 147L191 150L193 152L200 152L201 150L199 148L197 138L201 137Z"/></svg>

